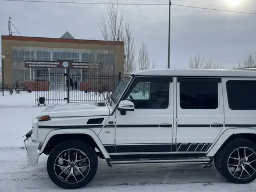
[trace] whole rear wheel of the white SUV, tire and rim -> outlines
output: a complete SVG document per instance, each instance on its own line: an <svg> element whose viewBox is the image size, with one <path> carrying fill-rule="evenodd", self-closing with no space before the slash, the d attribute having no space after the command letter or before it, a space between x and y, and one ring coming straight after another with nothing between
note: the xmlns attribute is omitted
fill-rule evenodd
<svg viewBox="0 0 256 192"><path fill-rule="evenodd" d="M256 179L256 144L246 138L229 141L218 152L215 166L229 182L252 182Z"/></svg>

